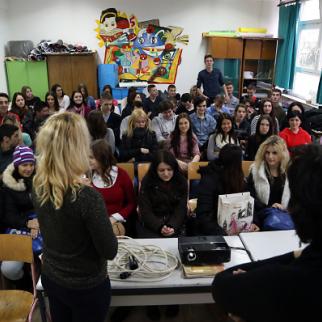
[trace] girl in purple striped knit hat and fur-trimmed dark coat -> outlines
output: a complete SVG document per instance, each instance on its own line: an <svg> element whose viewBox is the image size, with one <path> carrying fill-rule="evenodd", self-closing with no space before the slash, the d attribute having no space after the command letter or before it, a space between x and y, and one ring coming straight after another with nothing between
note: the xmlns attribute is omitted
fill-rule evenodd
<svg viewBox="0 0 322 322"><path fill-rule="evenodd" d="M26 146L17 146L13 153L13 163L3 173L5 228L30 229L32 238L39 234L38 219L34 218L34 206L31 199L32 179L35 171L35 157ZM24 263L5 261L1 265L1 273L7 279L15 281L18 288L31 286L31 279L23 278ZM29 283L28 283L29 282Z"/></svg>

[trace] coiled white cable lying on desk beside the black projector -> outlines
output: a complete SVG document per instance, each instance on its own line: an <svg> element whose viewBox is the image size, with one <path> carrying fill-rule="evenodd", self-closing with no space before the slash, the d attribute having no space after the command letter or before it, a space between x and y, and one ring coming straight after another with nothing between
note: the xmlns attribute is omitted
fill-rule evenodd
<svg viewBox="0 0 322 322"><path fill-rule="evenodd" d="M135 258L138 268L131 270L129 258ZM157 282L169 277L178 267L178 258L156 245L141 245L130 237L118 239L118 252L114 260L108 261L109 278L113 281ZM126 279L121 273L129 273Z"/></svg>

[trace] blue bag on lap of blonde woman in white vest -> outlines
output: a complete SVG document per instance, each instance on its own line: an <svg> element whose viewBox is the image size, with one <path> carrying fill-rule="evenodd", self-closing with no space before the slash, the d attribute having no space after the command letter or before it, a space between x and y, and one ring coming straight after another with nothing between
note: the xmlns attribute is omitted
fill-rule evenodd
<svg viewBox="0 0 322 322"><path fill-rule="evenodd" d="M263 217L263 230L292 230L295 228L290 214L285 210L265 208Z"/></svg>

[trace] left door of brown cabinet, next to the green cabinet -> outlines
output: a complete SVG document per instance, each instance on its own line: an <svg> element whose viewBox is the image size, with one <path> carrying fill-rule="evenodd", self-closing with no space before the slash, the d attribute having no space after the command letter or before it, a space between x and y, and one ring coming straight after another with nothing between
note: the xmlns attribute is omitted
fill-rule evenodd
<svg viewBox="0 0 322 322"><path fill-rule="evenodd" d="M60 84L67 95L71 95L73 87L72 69L69 55L48 55L49 86Z"/></svg>

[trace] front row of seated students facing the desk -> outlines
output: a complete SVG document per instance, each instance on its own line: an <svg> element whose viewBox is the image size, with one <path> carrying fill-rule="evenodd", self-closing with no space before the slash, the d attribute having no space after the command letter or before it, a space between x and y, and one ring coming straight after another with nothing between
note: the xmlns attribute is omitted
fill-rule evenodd
<svg viewBox="0 0 322 322"><path fill-rule="evenodd" d="M18 137L17 127L2 125L1 134L4 129L15 131L6 137ZM262 210L267 207L285 210L289 199L285 174L289 152L283 139L276 135L268 137L260 146L247 181L241 167L242 149L238 145L226 144L219 157L200 170L195 220L189 217L187 179L170 151L159 149L152 155L137 197L133 182L117 166L105 139L92 142L89 160L91 173L84 182L101 194L111 224L118 229L116 233L124 226L121 231L136 237L176 237L186 234L187 227L188 234L225 234L217 223L218 195L244 191L250 191L255 198L252 231L257 231L262 227ZM31 191L35 171L33 151L16 146L13 162L2 177L0 223L3 228L30 229L32 236L39 233L37 219L30 217L34 214ZM1 271L6 278L25 285L22 263L4 262Z"/></svg>

